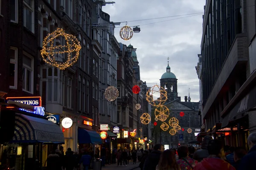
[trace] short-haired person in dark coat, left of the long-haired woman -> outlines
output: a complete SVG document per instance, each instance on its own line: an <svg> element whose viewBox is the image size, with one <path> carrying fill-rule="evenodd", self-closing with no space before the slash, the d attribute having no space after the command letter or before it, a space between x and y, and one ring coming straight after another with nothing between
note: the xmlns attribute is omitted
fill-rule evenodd
<svg viewBox="0 0 256 170"><path fill-rule="evenodd" d="M154 149L148 155L148 158L143 165L143 170L155 170L163 150L163 144L154 145Z"/></svg>

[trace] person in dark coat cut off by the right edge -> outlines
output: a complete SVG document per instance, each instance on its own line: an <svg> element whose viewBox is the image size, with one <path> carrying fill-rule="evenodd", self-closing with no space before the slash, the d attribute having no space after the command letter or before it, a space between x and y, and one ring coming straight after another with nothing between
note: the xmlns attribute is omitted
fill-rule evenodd
<svg viewBox="0 0 256 170"><path fill-rule="evenodd" d="M256 132L251 133L247 138L249 152L245 155L240 162L239 170L255 170L256 161Z"/></svg>

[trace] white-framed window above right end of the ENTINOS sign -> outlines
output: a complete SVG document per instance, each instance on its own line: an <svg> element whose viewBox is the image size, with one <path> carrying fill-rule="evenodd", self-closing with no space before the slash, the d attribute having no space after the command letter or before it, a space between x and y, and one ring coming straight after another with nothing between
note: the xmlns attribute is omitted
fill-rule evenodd
<svg viewBox="0 0 256 170"><path fill-rule="evenodd" d="M22 75L22 89L23 91L33 94L34 82L34 59L29 54L23 52L23 75Z"/></svg>

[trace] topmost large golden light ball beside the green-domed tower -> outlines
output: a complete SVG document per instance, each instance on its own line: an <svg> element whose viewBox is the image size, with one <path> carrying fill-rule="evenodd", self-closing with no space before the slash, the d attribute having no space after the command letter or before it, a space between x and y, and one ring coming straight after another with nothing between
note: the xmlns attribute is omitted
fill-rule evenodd
<svg viewBox="0 0 256 170"><path fill-rule="evenodd" d="M156 93L160 93L160 97L158 97L157 99L154 99L153 95ZM154 85L150 89L148 89L146 93L146 100L152 106L163 105L167 100L167 92L161 86Z"/></svg>

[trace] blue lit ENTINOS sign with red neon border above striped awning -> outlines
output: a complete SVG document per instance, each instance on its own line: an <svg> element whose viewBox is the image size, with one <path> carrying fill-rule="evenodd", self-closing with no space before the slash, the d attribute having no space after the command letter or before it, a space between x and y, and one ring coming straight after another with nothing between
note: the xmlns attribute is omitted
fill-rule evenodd
<svg viewBox="0 0 256 170"><path fill-rule="evenodd" d="M6 100L12 100L14 102L23 103L26 105L35 106L34 111L28 111L23 108L19 108L20 111L32 113L40 116L44 116L44 107L42 107L41 96L38 97L7 97Z"/></svg>

